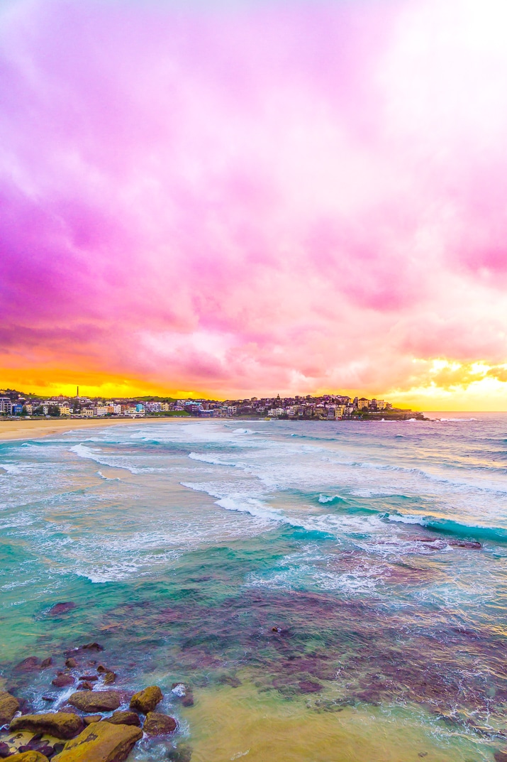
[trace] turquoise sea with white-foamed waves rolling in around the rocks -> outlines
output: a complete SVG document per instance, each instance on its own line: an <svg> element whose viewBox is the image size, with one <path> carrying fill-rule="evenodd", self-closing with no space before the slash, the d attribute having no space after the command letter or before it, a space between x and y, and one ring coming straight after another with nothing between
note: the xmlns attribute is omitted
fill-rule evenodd
<svg viewBox="0 0 507 762"><path fill-rule="evenodd" d="M121 687L160 685L179 723L129 759L492 762L507 415L432 418L0 443L0 689L62 706L63 654L95 641ZM53 667L16 667L29 656Z"/></svg>

